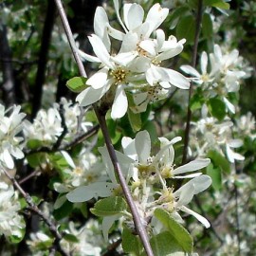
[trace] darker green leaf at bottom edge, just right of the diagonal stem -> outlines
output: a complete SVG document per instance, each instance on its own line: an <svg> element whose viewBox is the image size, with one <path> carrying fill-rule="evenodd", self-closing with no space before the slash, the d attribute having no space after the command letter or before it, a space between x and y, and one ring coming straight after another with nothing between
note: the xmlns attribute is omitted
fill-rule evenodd
<svg viewBox="0 0 256 256"><path fill-rule="evenodd" d="M180 252L184 254L184 250L170 231L163 231L150 240L151 247L154 252L154 256L173 255L174 252Z"/></svg>

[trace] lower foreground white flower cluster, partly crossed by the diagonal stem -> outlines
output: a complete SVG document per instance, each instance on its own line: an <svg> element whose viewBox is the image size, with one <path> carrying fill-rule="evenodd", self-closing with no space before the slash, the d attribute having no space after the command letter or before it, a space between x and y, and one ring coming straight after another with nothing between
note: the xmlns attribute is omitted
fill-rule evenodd
<svg viewBox="0 0 256 256"><path fill-rule="evenodd" d="M187 205L192 201L194 194L205 191L211 184L210 176L202 173L193 173L203 169L210 164L209 158L197 158L188 164L175 168L174 166L174 143L181 137L174 137L169 141L165 137L159 137L160 150L156 155L151 155L151 138L146 131L137 133L135 139L123 137L122 147L124 154L117 152L121 170L126 177L132 196L137 205L142 223L148 226L148 230L153 229L159 232L159 227L155 228L154 211L156 209L167 210L176 221L183 222L178 211L192 214L206 228L210 223L206 218L189 209ZM91 198L107 197L120 194L119 183L117 182L113 165L108 155L107 149L99 149L105 169L110 181L108 183L95 182L88 186L82 186L67 194L67 199L71 202L83 202ZM192 173L192 174L190 174ZM172 181L180 178L192 178L178 190L174 189ZM112 219L106 217L105 222L113 222L120 219L115 215ZM104 225L103 234L106 236L112 224ZM125 218L129 227L133 227L130 217Z"/></svg>

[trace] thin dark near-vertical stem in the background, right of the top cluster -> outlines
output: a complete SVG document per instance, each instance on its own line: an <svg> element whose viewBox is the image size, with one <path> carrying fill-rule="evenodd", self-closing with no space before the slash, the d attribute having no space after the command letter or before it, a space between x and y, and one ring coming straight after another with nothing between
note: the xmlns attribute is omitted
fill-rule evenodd
<svg viewBox="0 0 256 256"><path fill-rule="evenodd" d="M197 14L196 14L196 27L195 27L195 34L194 34L194 41L193 41L193 49L192 49L192 67L194 68L196 66L197 48L198 48L199 36L201 31L201 23L202 23L202 13L203 13L203 0L198 0ZM185 164L187 162L188 147L190 142L190 131L191 131L191 120L192 120L192 110L190 107L191 99L192 99L192 84L189 92L188 112L187 112L188 114L187 114L186 128L185 128L182 164Z"/></svg>

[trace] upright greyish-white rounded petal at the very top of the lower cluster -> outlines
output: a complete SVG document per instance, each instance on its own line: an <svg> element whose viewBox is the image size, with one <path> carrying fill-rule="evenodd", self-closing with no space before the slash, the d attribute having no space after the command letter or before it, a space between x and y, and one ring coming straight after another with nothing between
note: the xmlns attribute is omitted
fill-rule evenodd
<svg viewBox="0 0 256 256"><path fill-rule="evenodd" d="M147 131L140 131L137 133L135 139L135 146L137 151L138 161L141 164L147 163L147 159L151 152L151 139Z"/></svg>

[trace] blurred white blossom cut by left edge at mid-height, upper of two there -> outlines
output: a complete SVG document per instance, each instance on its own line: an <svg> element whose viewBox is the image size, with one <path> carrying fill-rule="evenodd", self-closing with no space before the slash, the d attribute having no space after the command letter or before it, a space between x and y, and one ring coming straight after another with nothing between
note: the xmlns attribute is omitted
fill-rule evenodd
<svg viewBox="0 0 256 256"><path fill-rule="evenodd" d="M5 110L0 104L0 163L4 168L13 169L13 157L21 159L23 137L17 136L23 131L23 119L26 114L20 113L21 107L14 105ZM9 112L12 111L9 115Z"/></svg>

